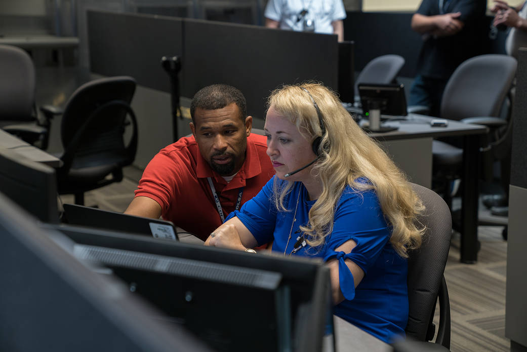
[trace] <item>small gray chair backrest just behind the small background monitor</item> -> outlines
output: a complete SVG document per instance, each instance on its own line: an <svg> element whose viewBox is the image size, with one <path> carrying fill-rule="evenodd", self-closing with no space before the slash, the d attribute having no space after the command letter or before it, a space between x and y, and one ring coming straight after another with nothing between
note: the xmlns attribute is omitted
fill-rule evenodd
<svg viewBox="0 0 527 352"><path fill-rule="evenodd" d="M393 83L404 62L402 56L394 54L378 56L368 62L355 80L355 96L359 94L359 83Z"/></svg>

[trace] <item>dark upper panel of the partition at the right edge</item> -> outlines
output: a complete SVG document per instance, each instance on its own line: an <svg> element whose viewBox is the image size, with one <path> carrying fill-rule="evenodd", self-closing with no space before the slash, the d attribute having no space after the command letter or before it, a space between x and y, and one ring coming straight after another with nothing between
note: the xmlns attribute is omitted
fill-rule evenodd
<svg viewBox="0 0 527 352"><path fill-rule="evenodd" d="M511 184L527 188L527 50L520 49L516 71L516 93L513 107Z"/></svg>

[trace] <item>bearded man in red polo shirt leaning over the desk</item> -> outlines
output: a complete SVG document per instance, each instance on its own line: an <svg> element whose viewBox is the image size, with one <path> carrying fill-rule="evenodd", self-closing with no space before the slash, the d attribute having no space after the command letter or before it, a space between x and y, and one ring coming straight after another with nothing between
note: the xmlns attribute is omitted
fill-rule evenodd
<svg viewBox="0 0 527 352"><path fill-rule="evenodd" d="M125 213L162 216L206 240L275 172L266 154L266 137L251 133L252 117L235 87L204 87L194 95L190 114L193 136L155 155Z"/></svg>

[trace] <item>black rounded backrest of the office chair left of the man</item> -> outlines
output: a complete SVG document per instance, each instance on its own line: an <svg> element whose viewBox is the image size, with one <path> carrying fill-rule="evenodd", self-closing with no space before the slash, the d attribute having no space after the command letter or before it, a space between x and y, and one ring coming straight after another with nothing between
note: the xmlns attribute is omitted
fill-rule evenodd
<svg viewBox="0 0 527 352"><path fill-rule="evenodd" d="M116 76L80 86L66 103L61 125L64 168L116 163L130 164L137 148L137 123L130 103L135 80ZM132 136L125 146L126 115L132 122Z"/></svg>

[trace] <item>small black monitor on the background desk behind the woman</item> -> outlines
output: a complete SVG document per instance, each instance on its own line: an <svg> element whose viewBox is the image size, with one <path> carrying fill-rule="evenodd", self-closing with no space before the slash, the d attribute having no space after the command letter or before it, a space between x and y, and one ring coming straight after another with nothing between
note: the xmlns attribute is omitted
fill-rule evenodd
<svg viewBox="0 0 527 352"><path fill-rule="evenodd" d="M364 115L374 109L383 115L407 115L403 84L359 83L358 90Z"/></svg>

